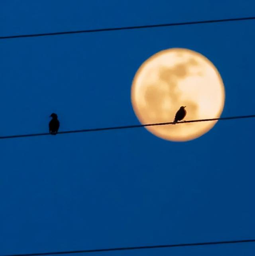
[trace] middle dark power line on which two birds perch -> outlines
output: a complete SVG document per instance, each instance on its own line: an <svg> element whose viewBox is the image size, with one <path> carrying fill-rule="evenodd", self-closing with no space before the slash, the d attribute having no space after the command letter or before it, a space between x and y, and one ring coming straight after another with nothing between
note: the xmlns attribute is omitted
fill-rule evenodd
<svg viewBox="0 0 255 256"><path fill-rule="evenodd" d="M254 117L255 117L255 115L231 116L231 117L220 117L220 118L180 121L180 122L177 122L177 123L166 122L166 123L154 123L154 124L135 124L135 125L127 125L127 126L113 126L113 127L104 127L104 128L92 128L92 129L83 129L83 130L64 131L64 132L58 132L57 134L79 133L79 132L99 132L99 131L106 131L106 130L121 130L121 129L148 127L148 126L184 124L184 123L207 122L207 121L215 121L215 120L230 120L230 119L241 119L241 118L254 118ZM34 134L10 135L10 136L1 136L0 139L24 138L24 137L35 137L35 136L45 136L45 135L50 135L50 134L48 132L45 132L45 133L34 133Z"/></svg>

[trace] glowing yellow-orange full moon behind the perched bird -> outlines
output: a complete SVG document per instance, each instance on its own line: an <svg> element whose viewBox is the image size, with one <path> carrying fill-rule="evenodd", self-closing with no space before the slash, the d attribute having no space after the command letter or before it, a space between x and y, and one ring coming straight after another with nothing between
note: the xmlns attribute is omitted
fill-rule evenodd
<svg viewBox="0 0 255 256"><path fill-rule="evenodd" d="M141 124L172 122L180 106L186 106L186 121L218 118L224 108L225 90L220 73L204 55L172 48L154 54L139 67L131 102ZM181 142L202 136L216 122L145 128L159 138Z"/></svg>

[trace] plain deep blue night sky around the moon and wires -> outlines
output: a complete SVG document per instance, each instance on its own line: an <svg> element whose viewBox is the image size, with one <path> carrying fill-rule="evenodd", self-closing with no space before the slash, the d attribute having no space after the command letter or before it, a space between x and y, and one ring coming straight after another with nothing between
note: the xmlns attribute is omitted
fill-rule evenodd
<svg viewBox="0 0 255 256"><path fill-rule="evenodd" d="M1 0L0 36L254 15L254 0ZM61 131L139 124L132 79L171 47L216 65L226 89L222 116L255 114L254 28L243 21L0 40L0 136L47 132L52 112ZM145 128L1 140L0 254L254 239L254 125L219 121L183 143ZM93 255L254 250L251 243Z"/></svg>

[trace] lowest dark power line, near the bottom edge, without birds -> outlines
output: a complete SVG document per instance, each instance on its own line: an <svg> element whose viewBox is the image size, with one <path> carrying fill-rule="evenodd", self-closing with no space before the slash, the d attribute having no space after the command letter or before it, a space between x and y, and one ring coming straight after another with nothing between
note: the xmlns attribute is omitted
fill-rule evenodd
<svg viewBox="0 0 255 256"><path fill-rule="evenodd" d="M43 255L57 255L57 254L112 252L112 251L126 251L126 250L185 247L185 246L206 246L206 245L216 245L216 244L240 244L240 243L249 243L249 242L255 242L255 239L218 241L218 242L200 242L200 243L189 243L189 244L164 244L164 245L151 245L151 246L119 247L119 248L108 248L108 249L77 250L77 251L63 251L63 252L7 254L7 255L1 255L1 256L43 256Z"/></svg>

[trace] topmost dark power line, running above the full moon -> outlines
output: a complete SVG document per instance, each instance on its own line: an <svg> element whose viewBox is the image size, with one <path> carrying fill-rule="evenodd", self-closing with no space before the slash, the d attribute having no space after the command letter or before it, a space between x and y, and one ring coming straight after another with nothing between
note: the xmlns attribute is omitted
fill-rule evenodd
<svg viewBox="0 0 255 256"><path fill-rule="evenodd" d="M192 21L192 22L177 22L177 23L116 27L116 28L99 28L99 29L92 29L92 30L75 30L75 31L52 32L52 33L26 34L26 35L7 35L7 36L1 36L0 39L39 37L39 36L49 36L49 35L67 35L67 34L78 34L78 33L94 33L94 32L106 32L106 31L116 31L116 30L137 30L137 29L143 29L143 28L159 28L159 27L184 26L184 25L194 25L194 24L233 22L233 21L243 21L243 20L255 20L255 17L231 18L231 19L221 19L221 20L202 20L202 21Z"/></svg>

